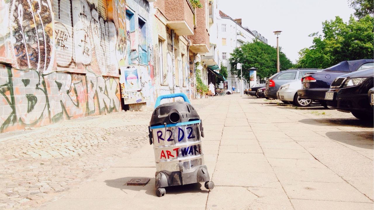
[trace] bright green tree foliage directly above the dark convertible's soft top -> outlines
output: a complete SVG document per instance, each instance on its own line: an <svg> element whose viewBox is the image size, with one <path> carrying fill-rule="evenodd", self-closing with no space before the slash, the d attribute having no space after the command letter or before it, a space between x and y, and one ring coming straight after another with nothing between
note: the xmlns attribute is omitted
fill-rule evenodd
<svg viewBox="0 0 374 210"><path fill-rule="evenodd" d="M322 35L310 34L313 45L300 50L296 68L327 68L341 61L373 59L374 18L370 15L358 21L350 17L343 22L335 20L322 23Z"/></svg>

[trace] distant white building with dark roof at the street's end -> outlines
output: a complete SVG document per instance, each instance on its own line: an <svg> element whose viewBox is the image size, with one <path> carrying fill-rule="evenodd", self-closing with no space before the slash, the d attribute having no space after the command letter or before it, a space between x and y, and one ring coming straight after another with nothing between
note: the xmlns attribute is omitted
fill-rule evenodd
<svg viewBox="0 0 374 210"><path fill-rule="evenodd" d="M242 19L232 19L230 16L219 11L218 22L218 41L217 48L221 53L221 61L224 66L227 67L227 85L228 89L231 91L232 87L236 88L236 92L242 91L240 89L240 79L231 74L230 65L230 53L234 51L235 48L242 46L244 43L251 43L254 39L263 41L267 44L267 39L257 33L257 31L252 32L248 27L242 26ZM249 83L243 80L243 88L249 87Z"/></svg>

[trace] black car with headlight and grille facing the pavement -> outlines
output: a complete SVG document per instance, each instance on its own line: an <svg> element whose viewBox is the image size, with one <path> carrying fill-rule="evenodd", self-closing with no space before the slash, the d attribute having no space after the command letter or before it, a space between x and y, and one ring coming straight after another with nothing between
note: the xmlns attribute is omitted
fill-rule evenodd
<svg viewBox="0 0 374 210"><path fill-rule="evenodd" d="M325 93L327 107L350 111L361 120L373 120L368 91L374 86L374 68L355 71L336 78Z"/></svg>

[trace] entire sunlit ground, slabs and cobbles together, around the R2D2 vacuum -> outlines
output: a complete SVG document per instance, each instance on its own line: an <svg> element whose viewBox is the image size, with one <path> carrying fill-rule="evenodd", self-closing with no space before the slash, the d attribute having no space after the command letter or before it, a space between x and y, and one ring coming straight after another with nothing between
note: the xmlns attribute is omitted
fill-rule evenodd
<svg viewBox="0 0 374 210"><path fill-rule="evenodd" d="M239 94L191 102L214 189L155 195L149 108L0 136L0 209L373 209L372 123Z"/></svg>

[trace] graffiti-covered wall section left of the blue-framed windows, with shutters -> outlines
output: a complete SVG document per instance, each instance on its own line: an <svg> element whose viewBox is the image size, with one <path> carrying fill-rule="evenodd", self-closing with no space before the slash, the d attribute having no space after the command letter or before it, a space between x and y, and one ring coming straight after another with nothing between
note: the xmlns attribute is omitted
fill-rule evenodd
<svg viewBox="0 0 374 210"><path fill-rule="evenodd" d="M119 111L125 1L0 1L0 132Z"/></svg>

